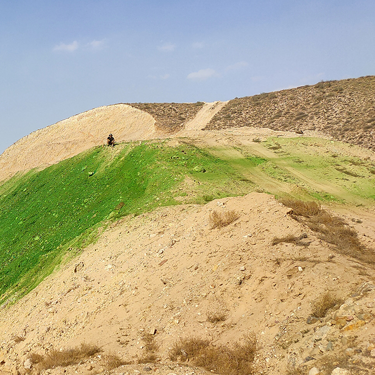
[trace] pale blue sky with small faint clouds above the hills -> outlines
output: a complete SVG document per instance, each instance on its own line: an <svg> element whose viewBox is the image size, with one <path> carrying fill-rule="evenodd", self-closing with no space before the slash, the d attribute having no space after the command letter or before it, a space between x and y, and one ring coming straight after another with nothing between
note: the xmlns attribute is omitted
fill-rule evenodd
<svg viewBox="0 0 375 375"><path fill-rule="evenodd" d="M0 0L0 153L101 105L374 74L374 0Z"/></svg>

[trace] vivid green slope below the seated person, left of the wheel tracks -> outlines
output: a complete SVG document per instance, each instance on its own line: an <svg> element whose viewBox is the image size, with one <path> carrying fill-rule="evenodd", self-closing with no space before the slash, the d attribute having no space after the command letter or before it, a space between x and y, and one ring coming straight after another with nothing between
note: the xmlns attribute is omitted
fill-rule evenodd
<svg viewBox="0 0 375 375"><path fill-rule="evenodd" d="M204 202L243 194L252 185L241 177L194 146L164 142L94 147L14 176L0 186L0 302L27 293L63 257L95 241L108 220L181 197Z"/></svg>

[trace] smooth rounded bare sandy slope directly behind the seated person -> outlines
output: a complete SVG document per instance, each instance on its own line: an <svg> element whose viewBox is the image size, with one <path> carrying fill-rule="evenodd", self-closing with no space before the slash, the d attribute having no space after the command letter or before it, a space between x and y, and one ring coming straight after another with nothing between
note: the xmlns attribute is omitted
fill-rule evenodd
<svg viewBox="0 0 375 375"><path fill-rule="evenodd" d="M157 137L155 119L126 104L101 106L36 130L17 140L0 155L0 181L17 171L50 165L92 146Z"/></svg>

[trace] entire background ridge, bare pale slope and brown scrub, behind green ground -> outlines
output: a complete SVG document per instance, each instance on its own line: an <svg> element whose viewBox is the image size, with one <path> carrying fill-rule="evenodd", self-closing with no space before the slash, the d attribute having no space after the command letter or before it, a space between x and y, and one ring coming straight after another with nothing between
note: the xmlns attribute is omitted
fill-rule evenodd
<svg viewBox="0 0 375 375"><path fill-rule="evenodd" d="M8 147L0 155L0 181L103 144L109 132L122 142L191 135L183 133L186 129L232 127L294 134L312 131L373 149L375 76L321 81L227 102L119 103L94 108L36 130Z"/></svg>

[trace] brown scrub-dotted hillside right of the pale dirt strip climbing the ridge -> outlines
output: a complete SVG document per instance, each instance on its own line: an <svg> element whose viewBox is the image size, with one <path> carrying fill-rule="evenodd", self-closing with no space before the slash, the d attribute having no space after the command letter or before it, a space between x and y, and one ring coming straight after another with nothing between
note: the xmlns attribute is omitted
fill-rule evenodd
<svg viewBox="0 0 375 375"><path fill-rule="evenodd" d="M238 126L320 130L344 142L375 149L375 76L235 98L205 129Z"/></svg>

